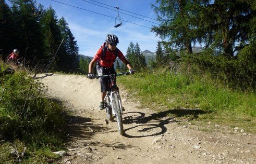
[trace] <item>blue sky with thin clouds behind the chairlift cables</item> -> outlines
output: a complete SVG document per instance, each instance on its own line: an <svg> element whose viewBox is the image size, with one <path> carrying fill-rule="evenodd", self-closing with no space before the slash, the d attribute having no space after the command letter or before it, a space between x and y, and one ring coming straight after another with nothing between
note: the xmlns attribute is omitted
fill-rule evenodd
<svg viewBox="0 0 256 164"><path fill-rule="evenodd" d="M138 43L141 51L155 52L157 42L161 40L150 29L159 23L151 8L155 0L37 0L39 4L45 9L52 6L57 19L64 17L77 41L79 54L85 56L93 57L107 34L118 37L117 48L124 54L130 42ZM119 18L123 23L118 28L114 27L120 23L115 19L118 16L115 7L119 7Z"/></svg>

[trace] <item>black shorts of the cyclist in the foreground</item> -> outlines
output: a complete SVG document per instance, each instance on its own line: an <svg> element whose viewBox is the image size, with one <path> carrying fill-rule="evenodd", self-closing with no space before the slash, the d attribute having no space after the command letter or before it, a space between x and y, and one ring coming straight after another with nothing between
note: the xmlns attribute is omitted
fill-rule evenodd
<svg viewBox="0 0 256 164"><path fill-rule="evenodd" d="M109 74L116 74L114 65L107 69L106 67L102 67L100 65L97 65L97 74L99 76L102 75L109 75ZM109 87L110 78L109 77L100 77L100 83L101 83L101 92L110 91L111 88Z"/></svg>

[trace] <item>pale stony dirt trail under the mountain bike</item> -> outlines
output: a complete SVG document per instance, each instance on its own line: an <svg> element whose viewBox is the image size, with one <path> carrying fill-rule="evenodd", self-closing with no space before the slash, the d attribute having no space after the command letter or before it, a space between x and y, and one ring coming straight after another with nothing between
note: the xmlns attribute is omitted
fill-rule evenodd
<svg viewBox="0 0 256 164"><path fill-rule="evenodd" d="M256 137L239 127L230 132L214 125L211 131L200 131L190 122L166 117L170 111L154 114L139 108L120 88L126 109L125 136L121 136L117 123L105 121L105 111L97 108L97 79L59 74L36 77L73 114L68 125L68 155L59 163L256 163Z"/></svg>

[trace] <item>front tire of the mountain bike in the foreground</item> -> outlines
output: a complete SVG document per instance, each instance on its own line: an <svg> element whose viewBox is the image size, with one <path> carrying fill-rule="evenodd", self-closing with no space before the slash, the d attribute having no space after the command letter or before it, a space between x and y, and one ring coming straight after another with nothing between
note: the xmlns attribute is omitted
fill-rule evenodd
<svg viewBox="0 0 256 164"><path fill-rule="evenodd" d="M116 112L116 121L118 125L118 131L121 135L124 135L124 126L123 126L123 119L121 114L121 105L119 103L117 93L113 93L113 106Z"/></svg>

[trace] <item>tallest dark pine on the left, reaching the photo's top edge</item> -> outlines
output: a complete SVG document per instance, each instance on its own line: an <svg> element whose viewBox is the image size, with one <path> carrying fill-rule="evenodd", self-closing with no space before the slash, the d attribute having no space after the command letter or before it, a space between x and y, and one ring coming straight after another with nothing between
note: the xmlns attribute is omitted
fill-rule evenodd
<svg viewBox="0 0 256 164"><path fill-rule="evenodd" d="M43 54L43 37L41 25L34 15L32 0L13 0L13 17L15 22L15 48L20 50L23 59L36 64Z"/></svg>

